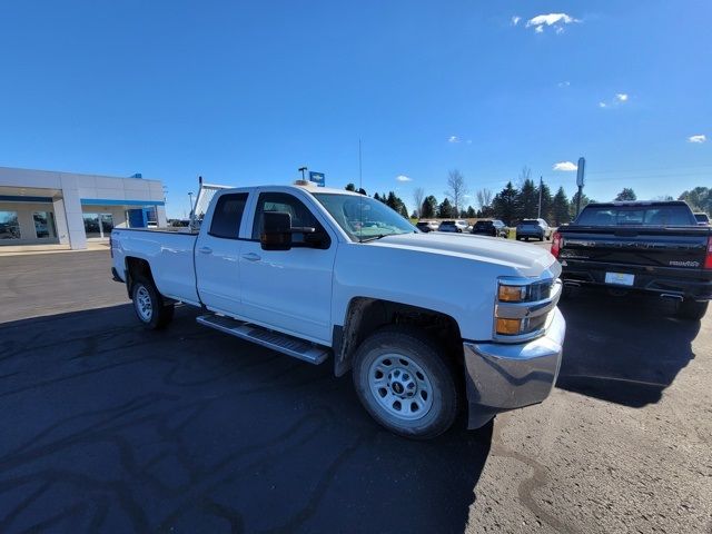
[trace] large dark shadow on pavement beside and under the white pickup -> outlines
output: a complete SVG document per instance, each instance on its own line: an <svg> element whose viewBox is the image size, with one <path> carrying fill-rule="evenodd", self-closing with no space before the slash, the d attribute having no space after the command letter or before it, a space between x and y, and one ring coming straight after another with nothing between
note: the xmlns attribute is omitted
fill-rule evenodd
<svg viewBox="0 0 712 534"><path fill-rule="evenodd" d="M382 431L350 378L130 306L0 326L0 532L462 532L492 425Z"/></svg>

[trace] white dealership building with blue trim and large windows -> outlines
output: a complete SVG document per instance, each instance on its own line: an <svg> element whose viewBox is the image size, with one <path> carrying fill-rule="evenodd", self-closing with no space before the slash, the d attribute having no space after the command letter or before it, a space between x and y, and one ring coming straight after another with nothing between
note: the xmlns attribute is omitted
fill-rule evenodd
<svg viewBox="0 0 712 534"><path fill-rule="evenodd" d="M0 167L0 251L108 240L111 229L166 226L164 186L130 178Z"/></svg>

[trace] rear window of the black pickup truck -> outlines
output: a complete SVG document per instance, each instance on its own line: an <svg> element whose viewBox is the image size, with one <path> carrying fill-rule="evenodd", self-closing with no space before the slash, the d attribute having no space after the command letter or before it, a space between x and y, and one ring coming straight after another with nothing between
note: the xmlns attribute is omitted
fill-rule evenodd
<svg viewBox="0 0 712 534"><path fill-rule="evenodd" d="M686 206L596 206L586 207L575 221L586 226L688 226Z"/></svg>

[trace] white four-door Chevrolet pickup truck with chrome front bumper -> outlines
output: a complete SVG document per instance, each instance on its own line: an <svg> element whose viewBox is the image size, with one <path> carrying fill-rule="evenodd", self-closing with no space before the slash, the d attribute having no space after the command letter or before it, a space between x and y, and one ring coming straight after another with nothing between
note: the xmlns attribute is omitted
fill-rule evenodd
<svg viewBox="0 0 712 534"><path fill-rule="evenodd" d="M197 320L352 370L366 411L408 437L541 403L558 374L561 267L490 237L424 234L363 195L295 186L218 191L198 233L115 229L113 277L147 327L177 301Z"/></svg>

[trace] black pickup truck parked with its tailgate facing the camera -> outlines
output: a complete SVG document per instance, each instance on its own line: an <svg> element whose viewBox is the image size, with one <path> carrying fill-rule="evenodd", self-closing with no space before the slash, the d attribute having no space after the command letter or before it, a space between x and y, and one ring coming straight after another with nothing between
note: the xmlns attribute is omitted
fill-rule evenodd
<svg viewBox="0 0 712 534"><path fill-rule="evenodd" d="M643 290L701 319L712 299L712 228L681 201L590 204L558 228L552 254L565 286Z"/></svg>

